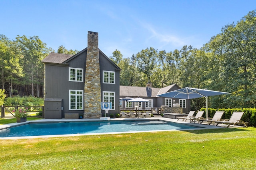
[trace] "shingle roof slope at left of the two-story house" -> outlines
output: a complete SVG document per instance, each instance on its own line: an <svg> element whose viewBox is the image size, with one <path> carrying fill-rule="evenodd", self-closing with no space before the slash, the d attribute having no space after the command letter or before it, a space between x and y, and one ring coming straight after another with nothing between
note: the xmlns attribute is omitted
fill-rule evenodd
<svg viewBox="0 0 256 170"><path fill-rule="evenodd" d="M62 54L62 53L50 53L48 56L46 56L42 62L44 63L58 63L61 64L73 55L70 54Z"/></svg>

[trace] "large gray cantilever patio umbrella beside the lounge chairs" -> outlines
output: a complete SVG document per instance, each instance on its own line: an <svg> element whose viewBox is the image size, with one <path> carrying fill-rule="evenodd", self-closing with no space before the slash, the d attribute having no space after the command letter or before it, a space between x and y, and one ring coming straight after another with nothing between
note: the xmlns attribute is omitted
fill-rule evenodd
<svg viewBox="0 0 256 170"><path fill-rule="evenodd" d="M207 89L185 87L164 94L159 94L159 97L178 98L178 99L194 99L206 98L206 119L208 119L208 96L216 96L220 94L231 94L227 92L218 92Z"/></svg>

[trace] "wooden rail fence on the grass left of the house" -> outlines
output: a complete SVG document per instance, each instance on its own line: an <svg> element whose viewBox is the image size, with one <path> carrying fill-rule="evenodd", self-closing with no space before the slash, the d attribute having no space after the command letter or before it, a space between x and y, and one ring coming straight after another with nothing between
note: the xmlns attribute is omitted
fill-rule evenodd
<svg viewBox="0 0 256 170"><path fill-rule="evenodd" d="M30 117L44 117L44 106L1 106L1 118L14 117L12 110L28 108L29 113L40 113L42 115L30 116Z"/></svg>

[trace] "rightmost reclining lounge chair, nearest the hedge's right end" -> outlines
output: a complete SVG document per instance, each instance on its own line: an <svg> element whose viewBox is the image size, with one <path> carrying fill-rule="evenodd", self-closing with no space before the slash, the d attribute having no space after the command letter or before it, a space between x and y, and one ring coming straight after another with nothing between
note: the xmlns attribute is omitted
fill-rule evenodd
<svg viewBox="0 0 256 170"><path fill-rule="evenodd" d="M224 121L215 121L216 126L219 123L224 123L224 124L228 124L227 127L229 127L231 124L233 124L234 126L236 124L244 124L246 127L248 127L247 122L244 122L244 121L240 120L243 114L244 114L244 112L234 111L232 113L230 119L224 119Z"/></svg>

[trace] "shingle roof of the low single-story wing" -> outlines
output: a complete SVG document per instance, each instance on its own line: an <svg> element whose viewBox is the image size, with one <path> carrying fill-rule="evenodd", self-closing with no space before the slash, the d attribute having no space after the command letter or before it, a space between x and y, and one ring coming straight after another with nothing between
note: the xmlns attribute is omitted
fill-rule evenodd
<svg viewBox="0 0 256 170"><path fill-rule="evenodd" d="M120 96L156 97L158 94L166 93L176 84L164 88L146 88L136 86L120 86Z"/></svg>

